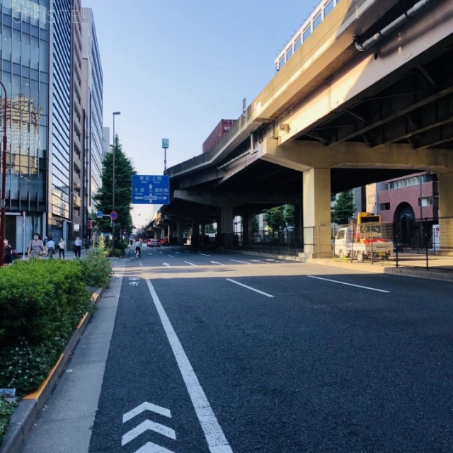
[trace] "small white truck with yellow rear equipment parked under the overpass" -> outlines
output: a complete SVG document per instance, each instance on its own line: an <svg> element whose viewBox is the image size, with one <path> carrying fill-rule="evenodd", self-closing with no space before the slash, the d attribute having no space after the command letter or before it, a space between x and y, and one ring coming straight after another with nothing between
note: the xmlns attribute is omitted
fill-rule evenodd
<svg viewBox="0 0 453 453"><path fill-rule="evenodd" d="M335 256L340 259L388 260L394 244L382 236L380 216L360 212L357 223L351 222L338 230L333 248Z"/></svg>

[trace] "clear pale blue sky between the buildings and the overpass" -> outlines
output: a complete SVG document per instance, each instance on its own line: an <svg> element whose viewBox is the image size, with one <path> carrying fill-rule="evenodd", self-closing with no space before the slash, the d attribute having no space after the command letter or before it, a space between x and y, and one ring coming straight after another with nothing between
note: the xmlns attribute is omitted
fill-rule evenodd
<svg viewBox="0 0 453 453"><path fill-rule="evenodd" d="M103 121L138 174L202 153L275 75L274 60L319 0L82 0L93 9L103 67ZM110 139L110 142L112 140ZM159 205L154 206L154 211ZM136 226L151 217L134 205ZM140 214L140 216L139 216Z"/></svg>

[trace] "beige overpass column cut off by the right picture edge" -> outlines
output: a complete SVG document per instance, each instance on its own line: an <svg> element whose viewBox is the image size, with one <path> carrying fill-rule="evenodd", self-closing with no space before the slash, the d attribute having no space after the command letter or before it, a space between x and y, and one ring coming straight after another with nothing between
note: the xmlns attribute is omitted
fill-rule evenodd
<svg viewBox="0 0 453 453"><path fill-rule="evenodd" d="M453 173L438 178L440 251L453 255Z"/></svg>

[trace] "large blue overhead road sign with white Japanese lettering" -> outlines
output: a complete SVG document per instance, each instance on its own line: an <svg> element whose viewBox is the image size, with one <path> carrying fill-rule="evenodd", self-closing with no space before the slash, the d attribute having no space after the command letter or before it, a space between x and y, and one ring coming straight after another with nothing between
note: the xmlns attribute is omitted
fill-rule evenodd
<svg viewBox="0 0 453 453"><path fill-rule="evenodd" d="M132 204L168 205L170 178L168 176L132 175Z"/></svg>

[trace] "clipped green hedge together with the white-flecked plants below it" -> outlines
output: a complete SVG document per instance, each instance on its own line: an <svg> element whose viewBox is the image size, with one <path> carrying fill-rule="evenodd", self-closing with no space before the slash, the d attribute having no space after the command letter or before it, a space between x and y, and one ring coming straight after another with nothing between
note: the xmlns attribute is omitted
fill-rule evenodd
<svg viewBox="0 0 453 453"><path fill-rule="evenodd" d="M0 268L0 388L35 390L76 324L91 311L80 260L28 260Z"/></svg>

